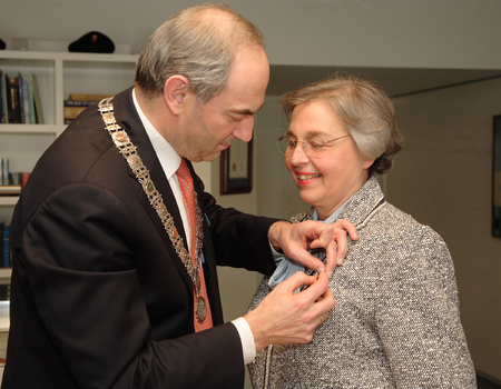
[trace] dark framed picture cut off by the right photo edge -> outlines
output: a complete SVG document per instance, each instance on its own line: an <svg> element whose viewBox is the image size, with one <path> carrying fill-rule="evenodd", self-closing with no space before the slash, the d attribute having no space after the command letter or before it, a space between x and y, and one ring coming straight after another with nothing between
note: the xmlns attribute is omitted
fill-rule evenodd
<svg viewBox="0 0 501 389"><path fill-rule="evenodd" d="M501 237L501 116L494 117L492 150L492 235Z"/></svg>

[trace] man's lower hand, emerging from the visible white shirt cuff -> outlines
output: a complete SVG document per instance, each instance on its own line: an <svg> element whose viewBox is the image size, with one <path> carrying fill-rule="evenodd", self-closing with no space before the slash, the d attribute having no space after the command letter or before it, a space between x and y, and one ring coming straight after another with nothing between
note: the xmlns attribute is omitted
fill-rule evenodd
<svg viewBox="0 0 501 389"><path fill-rule="evenodd" d="M310 287L294 295L302 286ZM327 319L335 305L325 272L320 272L317 281L302 271L296 272L244 316L253 331L256 352L269 345L312 341L316 327Z"/></svg>

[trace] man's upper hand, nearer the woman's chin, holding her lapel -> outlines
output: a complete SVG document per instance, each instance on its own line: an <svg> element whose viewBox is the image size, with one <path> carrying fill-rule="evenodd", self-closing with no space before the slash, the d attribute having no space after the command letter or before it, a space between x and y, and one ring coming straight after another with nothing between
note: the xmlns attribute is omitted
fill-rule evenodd
<svg viewBox="0 0 501 389"><path fill-rule="evenodd" d="M331 278L336 265L343 265L346 257L346 232L353 240L358 239L355 227L345 219L332 225L312 220L295 225L277 221L269 228L268 239L274 248L282 249L288 258L312 270L325 269ZM316 248L325 249L326 267L307 251Z"/></svg>

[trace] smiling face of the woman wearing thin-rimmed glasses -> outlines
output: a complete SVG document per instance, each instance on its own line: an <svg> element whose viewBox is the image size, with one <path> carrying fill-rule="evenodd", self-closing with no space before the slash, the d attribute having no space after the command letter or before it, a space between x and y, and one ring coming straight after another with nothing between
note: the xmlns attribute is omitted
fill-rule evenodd
<svg viewBox="0 0 501 389"><path fill-rule="evenodd" d="M294 108L287 136L303 140L315 136L323 141L348 134L334 109L323 100ZM285 156L285 166L299 188L301 198L312 205L321 220L328 218L367 180L373 161L364 161L352 137L327 143L318 157L305 153L301 143Z"/></svg>

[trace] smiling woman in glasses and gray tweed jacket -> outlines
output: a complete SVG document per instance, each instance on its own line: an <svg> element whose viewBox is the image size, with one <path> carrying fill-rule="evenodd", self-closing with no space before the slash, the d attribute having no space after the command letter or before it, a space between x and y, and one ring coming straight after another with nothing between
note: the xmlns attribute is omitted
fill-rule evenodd
<svg viewBox="0 0 501 389"><path fill-rule="evenodd" d="M336 307L318 318L313 341L259 351L249 365L254 388L475 388L449 250L387 203L375 177L402 147L390 99L344 77L292 91L281 106L291 123L277 143L312 205L292 221L347 219L358 240L330 280ZM306 271L283 259L250 309L298 269Z"/></svg>

